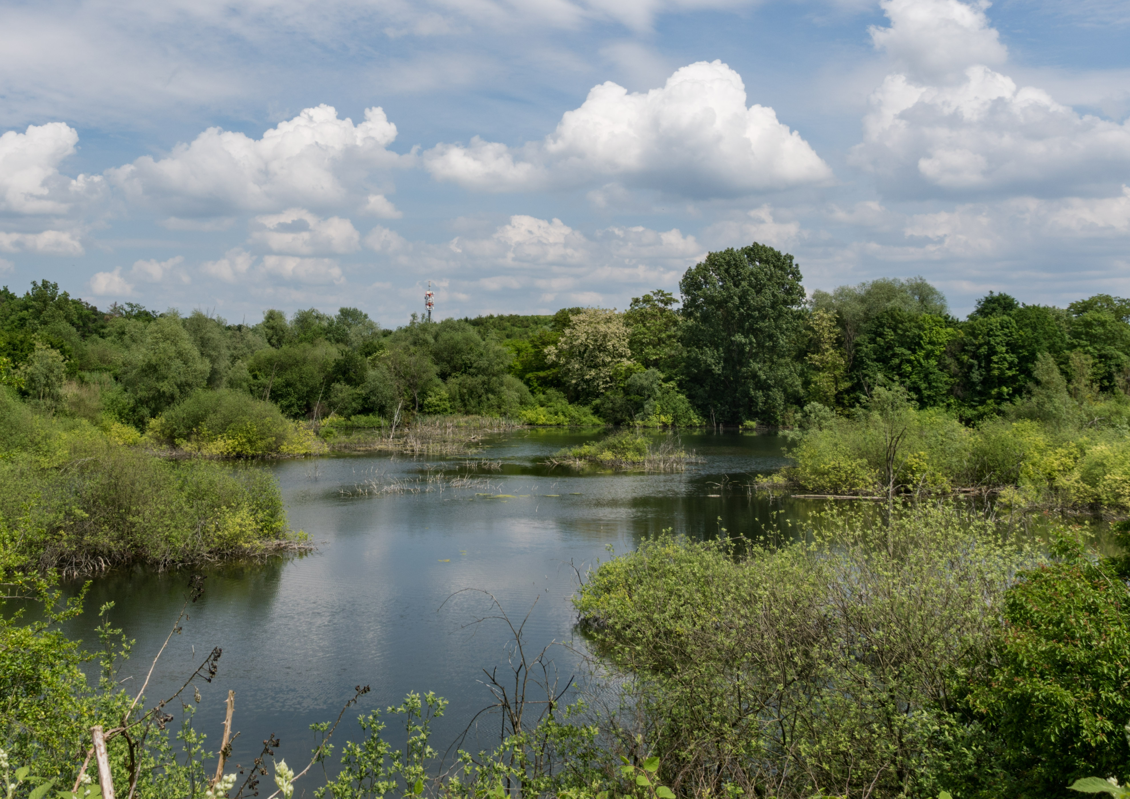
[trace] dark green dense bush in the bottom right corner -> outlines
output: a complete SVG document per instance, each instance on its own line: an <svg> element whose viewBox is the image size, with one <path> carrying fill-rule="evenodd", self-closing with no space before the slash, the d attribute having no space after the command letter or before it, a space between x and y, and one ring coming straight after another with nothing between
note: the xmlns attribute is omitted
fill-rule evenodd
<svg viewBox="0 0 1130 799"><path fill-rule="evenodd" d="M1057 563L1006 594L992 659L962 686L993 752L968 794L1068 796L1074 780L1130 774L1130 588L1119 563L1061 537Z"/></svg>

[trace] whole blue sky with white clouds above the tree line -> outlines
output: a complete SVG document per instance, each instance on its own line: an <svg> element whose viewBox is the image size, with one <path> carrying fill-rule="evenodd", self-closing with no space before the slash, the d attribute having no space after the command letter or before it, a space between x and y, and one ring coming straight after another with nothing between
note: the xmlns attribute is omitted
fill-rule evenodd
<svg viewBox="0 0 1130 799"><path fill-rule="evenodd" d="M809 289L1130 294L1130 3L0 5L0 281L257 321Z"/></svg>

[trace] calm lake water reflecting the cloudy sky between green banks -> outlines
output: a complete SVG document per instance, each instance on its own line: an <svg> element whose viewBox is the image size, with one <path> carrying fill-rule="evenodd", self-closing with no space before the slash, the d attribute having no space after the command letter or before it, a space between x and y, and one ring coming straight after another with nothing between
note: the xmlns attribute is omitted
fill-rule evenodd
<svg viewBox="0 0 1130 799"><path fill-rule="evenodd" d="M703 462L673 475L579 475L541 462L599 435L533 429L492 436L479 457L501 461L501 470L480 471L462 486L434 478L437 470L453 477L463 459L345 455L266 467L279 480L292 527L308 532L318 552L206 570L203 597L190 606L147 695L154 701L172 693L212 646L221 646L216 679L200 684L195 726L215 748L224 701L234 689L234 729L241 731L234 762L249 763L275 733L282 740L277 756L303 763L314 740L308 726L336 718L354 686L366 684L372 693L348 711L334 736L338 748L357 736L358 712L399 704L409 691L434 691L451 702L433 728L442 752L490 703L481 669L505 666L511 639L497 622L468 626L490 615L490 600L455 592L488 591L519 619L532 607L525 635L538 649L570 642L574 567L583 574L609 557L609 547L625 552L667 528L695 537L720 528L757 535L768 520L771 503L741 486L785 463L782 438L684 434L683 445ZM376 490L398 481L400 490ZM433 490L425 490L429 485ZM97 608L114 601L111 620L137 642L120 677L132 675L124 685L136 689L184 602L188 576L134 568L101 577L87 613L68 632L93 648ZM555 659L567 679L575 653L556 648ZM180 704L168 711L180 717ZM492 744L497 722L487 724L468 748Z"/></svg>

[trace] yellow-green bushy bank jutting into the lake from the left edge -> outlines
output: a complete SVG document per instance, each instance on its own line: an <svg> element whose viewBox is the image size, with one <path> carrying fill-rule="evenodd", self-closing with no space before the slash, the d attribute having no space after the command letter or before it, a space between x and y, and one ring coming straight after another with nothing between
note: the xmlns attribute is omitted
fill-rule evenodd
<svg viewBox="0 0 1130 799"><path fill-rule="evenodd" d="M0 548L8 567L88 574L301 546L258 469L176 461L114 423L35 412L0 390Z"/></svg>

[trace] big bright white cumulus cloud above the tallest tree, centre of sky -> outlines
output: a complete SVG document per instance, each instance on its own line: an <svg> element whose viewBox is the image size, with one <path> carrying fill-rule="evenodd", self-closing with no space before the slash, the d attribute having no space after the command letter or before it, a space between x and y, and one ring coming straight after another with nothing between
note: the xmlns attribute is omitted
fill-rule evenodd
<svg viewBox="0 0 1130 799"><path fill-rule="evenodd" d="M516 191L599 180L690 197L732 197L822 183L832 170L721 61L677 70L662 88L593 87L544 141L521 148L471 140L424 154L437 180Z"/></svg>

